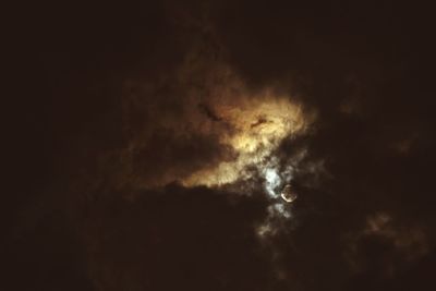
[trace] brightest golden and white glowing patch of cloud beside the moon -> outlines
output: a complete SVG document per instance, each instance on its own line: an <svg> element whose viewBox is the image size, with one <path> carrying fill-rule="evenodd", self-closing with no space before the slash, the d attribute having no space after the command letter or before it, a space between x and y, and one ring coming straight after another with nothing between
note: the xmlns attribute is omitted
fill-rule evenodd
<svg viewBox="0 0 436 291"><path fill-rule="evenodd" d="M219 135L219 142L232 149L237 158L192 173L181 181L185 186L220 186L246 180L251 178L246 171L249 167L263 172L262 168L280 142L303 132L307 122L299 106L288 97L272 96L268 90L238 106L217 101L210 107L231 129ZM280 177L272 170L276 171L266 172L268 177L265 179L268 181L268 194L277 197L279 194L274 189L280 184Z"/></svg>

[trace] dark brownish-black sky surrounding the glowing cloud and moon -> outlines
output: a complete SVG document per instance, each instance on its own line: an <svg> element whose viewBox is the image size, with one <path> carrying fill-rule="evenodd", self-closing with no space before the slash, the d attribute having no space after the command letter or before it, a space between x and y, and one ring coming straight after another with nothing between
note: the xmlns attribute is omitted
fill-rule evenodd
<svg viewBox="0 0 436 291"><path fill-rule="evenodd" d="M433 16L399 1L14 8L0 289L436 290ZM192 88L207 100L210 63L317 112L278 149L307 155L294 218L265 240L262 189L168 182L225 157L213 135L159 128L185 122Z"/></svg>

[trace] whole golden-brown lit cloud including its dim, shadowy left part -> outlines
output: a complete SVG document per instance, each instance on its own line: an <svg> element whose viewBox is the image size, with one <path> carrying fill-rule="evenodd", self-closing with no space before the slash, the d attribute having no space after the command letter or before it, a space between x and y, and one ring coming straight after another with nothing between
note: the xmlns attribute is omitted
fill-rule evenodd
<svg viewBox="0 0 436 291"><path fill-rule="evenodd" d="M173 181L220 187L241 181L249 185L262 175L267 194L279 196L291 174L290 167L280 172L274 151L284 138L304 133L313 114L272 86L250 89L223 61L193 56L171 77L126 83L131 140L122 154L126 167L121 179L140 187ZM156 160L153 169L150 160Z"/></svg>

